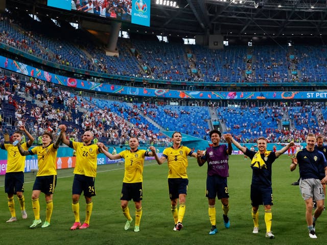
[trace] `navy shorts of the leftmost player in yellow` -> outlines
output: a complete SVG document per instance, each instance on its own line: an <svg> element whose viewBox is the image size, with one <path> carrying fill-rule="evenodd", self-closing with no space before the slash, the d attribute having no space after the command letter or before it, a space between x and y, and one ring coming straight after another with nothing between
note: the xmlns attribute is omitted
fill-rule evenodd
<svg viewBox="0 0 327 245"><path fill-rule="evenodd" d="M16 194L24 192L24 172L9 172L5 175L5 192Z"/></svg>

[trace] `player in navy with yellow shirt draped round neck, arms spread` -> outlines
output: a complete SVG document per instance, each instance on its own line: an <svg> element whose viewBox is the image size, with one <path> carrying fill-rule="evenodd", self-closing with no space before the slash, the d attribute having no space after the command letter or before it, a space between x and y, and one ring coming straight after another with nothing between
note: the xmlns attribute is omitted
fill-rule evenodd
<svg viewBox="0 0 327 245"><path fill-rule="evenodd" d="M287 149L294 145L291 142L276 152L267 151L267 140L259 138L257 141L258 152L248 150L232 138L232 143L251 159L252 183L251 183L251 205L252 218L254 223L253 233L259 233L259 205L264 205L266 237L274 238L271 232L272 212L272 188L271 170L272 163Z"/></svg>

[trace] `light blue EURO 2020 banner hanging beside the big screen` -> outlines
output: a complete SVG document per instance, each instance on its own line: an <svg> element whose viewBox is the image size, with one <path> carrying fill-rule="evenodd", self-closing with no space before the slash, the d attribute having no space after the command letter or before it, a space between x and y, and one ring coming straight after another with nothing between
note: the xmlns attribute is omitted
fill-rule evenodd
<svg viewBox="0 0 327 245"><path fill-rule="evenodd" d="M150 26L150 0L133 0L132 24Z"/></svg>

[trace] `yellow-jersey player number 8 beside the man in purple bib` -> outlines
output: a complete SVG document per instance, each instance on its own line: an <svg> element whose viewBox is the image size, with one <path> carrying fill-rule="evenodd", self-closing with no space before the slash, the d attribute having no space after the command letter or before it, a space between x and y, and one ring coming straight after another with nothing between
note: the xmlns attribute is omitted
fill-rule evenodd
<svg viewBox="0 0 327 245"><path fill-rule="evenodd" d="M174 132L172 136L173 146L164 149L159 158L155 149L151 149L158 164L168 162L168 187L171 201L171 211L174 217L174 231L180 231L183 228L182 221L186 208L186 194L188 191L188 174L186 168L189 165L188 156L197 158L197 153L189 147L182 146L182 135L180 132ZM179 209L177 209L179 201Z"/></svg>

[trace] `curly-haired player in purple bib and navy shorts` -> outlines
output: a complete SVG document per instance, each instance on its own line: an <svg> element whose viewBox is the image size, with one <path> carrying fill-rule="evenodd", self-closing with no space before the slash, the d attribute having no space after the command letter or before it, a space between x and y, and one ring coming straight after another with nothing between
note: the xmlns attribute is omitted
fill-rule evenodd
<svg viewBox="0 0 327 245"><path fill-rule="evenodd" d="M228 159L232 152L231 135L224 135L227 145L219 145L221 132L214 129L209 133L213 146L207 147L205 151L197 151L197 162L203 166L207 162L206 197L208 198L208 214L211 222L210 235L218 232L216 227L216 196L220 199L223 209L223 220L225 228L229 228L230 222L227 216L229 211L229 194L227 187Z"/></svg>

